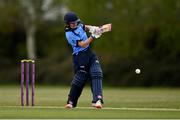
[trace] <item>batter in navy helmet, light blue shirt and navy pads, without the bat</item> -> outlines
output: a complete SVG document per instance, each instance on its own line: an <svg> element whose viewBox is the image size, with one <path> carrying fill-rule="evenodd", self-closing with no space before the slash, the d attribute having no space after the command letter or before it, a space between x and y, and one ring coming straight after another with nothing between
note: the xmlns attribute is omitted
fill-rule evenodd
<svg viewBox="0 0 180 120"><path fill-rule="evenodd" d="M92 106L102 108L103 73L97 56L89 47L91 42L101 36L101 34L95 33L98 27L84 25L73 12L66 13L64 22L66 23L66 38L73 49L72 55L75 73L65 108L74 108L77 106L78 99L88 78L91 80L93 94ZM92 33L90 37L86 34L87 30Z"/></svg>

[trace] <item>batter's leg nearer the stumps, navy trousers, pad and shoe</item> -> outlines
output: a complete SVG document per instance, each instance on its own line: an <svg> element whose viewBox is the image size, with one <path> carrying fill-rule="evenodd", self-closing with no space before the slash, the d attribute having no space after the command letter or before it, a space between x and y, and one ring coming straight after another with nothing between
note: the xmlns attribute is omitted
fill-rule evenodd
<svg viewBox="0 0 180 120"><path fill-rule="evenodd" d="M71 89L67 101L67 104L72 105L72 107L76 107L78 99L88 78L86 66L88 58L86 57L86 54L87 53L85 52L80 53L77 56L73 56L75 75L71 83Z"/></svg>

